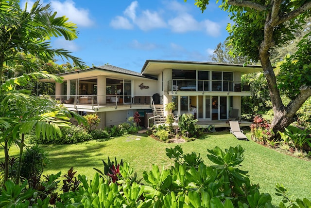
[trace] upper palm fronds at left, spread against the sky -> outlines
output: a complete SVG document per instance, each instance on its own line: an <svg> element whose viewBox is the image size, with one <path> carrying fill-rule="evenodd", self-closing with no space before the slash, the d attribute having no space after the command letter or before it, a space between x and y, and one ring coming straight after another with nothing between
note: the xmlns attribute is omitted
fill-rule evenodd
<svg viewBox="0 0 311 208"><path fill-rule="evenodd" d="M76 24L65 16L56 17L56 12L50 11L50 5L43 6L40 0L35 1L29 11L27 2L22 10L19 0L0 0L0 79L4 64L8 67L20 64L30 70L37 68L36 63L20 53L33 55L44 62L54 57L71 59L76 66L85 68L80 58L65 49L53 49L49 41L61 36L73 40L77 38L76 28Z"/></svg>

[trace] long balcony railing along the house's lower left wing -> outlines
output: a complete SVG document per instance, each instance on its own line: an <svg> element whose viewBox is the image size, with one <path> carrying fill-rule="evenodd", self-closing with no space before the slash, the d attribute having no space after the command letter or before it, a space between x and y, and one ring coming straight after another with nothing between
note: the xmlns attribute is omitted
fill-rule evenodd
<svg viewBox="0 0 311 208"><path fill-rule="evenodd" d="M91 105L92 109L100 105L150 105L152 96L128 96L128 95L51 95L52 98L59 100L63 104L74 105ZM105 102L104 102L105 101Z"/></svg>

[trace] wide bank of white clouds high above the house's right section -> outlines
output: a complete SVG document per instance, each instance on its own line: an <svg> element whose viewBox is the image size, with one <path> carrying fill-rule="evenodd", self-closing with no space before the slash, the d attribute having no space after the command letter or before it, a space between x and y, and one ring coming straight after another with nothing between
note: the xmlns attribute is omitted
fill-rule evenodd
<svg viewBox="0 0 311 208"><path fill-rule="evenodd" d="M165 5L161 11L143 10L138 13L138 1L132 1L123 11L123 16L116 16L111 20L110 26L115 29L133 29L134 25L143 31L155 28L170 28L173 33L186 33L189 31L203 31L208 36L220 35L220 23L205 19L197 21L190 15L184 4L176 0L163 1ZM169 15L168 15L169 14ZM166 16L175 16L165 20Z"/></svg>

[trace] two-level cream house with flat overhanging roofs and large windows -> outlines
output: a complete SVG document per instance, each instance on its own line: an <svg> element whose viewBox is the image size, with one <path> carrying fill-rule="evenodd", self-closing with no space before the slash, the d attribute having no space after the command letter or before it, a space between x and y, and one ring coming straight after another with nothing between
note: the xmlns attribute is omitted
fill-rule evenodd
<svg viewBox="0 0 311 208"><path fill-rule="evenodd" d="M260 70L259 66L171 60L146 60L141 73L104 65L59 74L64 82L55 84L55 98L69 110L97 113L101 128L126 122L136 111L141 125L148 126L150 117L163 123L167 115L163 109L169 102L176 104L175 115L192 113L203 127L225 127L232 109L241 115L241 96L251 95L248 85L241 86L241 76Z"/></svg>

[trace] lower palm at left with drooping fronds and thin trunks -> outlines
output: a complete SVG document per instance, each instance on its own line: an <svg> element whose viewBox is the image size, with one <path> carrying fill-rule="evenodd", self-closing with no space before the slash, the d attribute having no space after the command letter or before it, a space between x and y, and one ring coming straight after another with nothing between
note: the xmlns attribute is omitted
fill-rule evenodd
<svg viewBox="0 0 311 208"><path fill-rule="evenodd" d="M60 127L69 127L69 117L76 118L79 123L85 122L82 116L55 105L52 99L35 96L31 89L17 89L17 86L25 86L39 78L61 81L58 76L37 72L8 79L0 86L0 145L5 152L5 181L8 180L9 149L16 143L20 148L18 184L25 134L35 130L36 136L42 134L44 139L50 139L62 135Z"/></svg>

